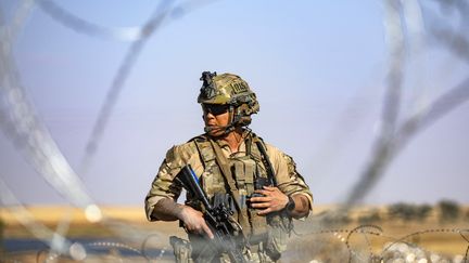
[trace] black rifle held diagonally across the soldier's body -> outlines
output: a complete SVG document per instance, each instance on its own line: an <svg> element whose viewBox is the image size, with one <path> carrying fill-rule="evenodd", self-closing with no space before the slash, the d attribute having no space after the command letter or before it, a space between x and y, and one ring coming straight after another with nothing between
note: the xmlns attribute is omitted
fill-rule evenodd
<svg viewBox="0 0 469 263"><path fill-rule="evenodd" d="M175 180L177 180L186 190L191 193L192 196L203 203L205 208L203 216L208 227L214 233L214 240L212 240L210 245L216 248L219 253L227 253L231 262L248 262L242 253L244 242L237 240L239 237L242 237L242 233L240 233L241 227L239 225L239 227L234 226L237 223L231 219L233 212L227 202L215 201L214 206L210 203L208 198L199 185L199 180L190 165L185 166L176 175ZM212 254L212 257L215 255L216 254ZM198 262L198 259L195 259L195 262Z"/></svg>

